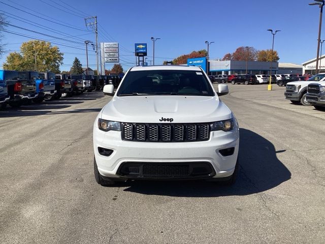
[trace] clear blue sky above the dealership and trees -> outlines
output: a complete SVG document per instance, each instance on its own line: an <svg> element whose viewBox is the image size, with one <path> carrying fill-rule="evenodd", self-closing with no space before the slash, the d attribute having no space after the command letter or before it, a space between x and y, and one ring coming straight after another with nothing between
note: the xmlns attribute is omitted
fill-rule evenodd
<svg viewBox="0 0 325 244"><path fill-rule="evenodd" d="M99 42L120 44L120 63L124 69L135 65L135 43L147 43L148 60L152 60L151 37L161 38L155 43L155 64L159 65L164 60L172 60L193 50L206 49L205 41L214 42L210 45L210 58L222 58L225 53L234 52L240 46L270 49L272 35L266 31L270 28L281 30L276 34L274 44L274 49L279 53L279 62L301 64L316 56L319 8L309 6L311 2L0 0L0 12L6 15L6 20L12 25L61 38L51 38L13 26L6 27L8 32L58 43L52 45L58 46L64 53L61 71L70 70L75 57L86 66L83 43L85 40L94 41L95 38L93 32L87 31L84 17L95 15L98 16ZM325 39L324 28L322 32L322 39ZM2 34L2 43L6 44L7 52L0 59L0 68L9 52L19 51L22 42L31 40L6 32ZM91 48L89 64L90 68L96 68ZM106 65L106 69L112 66Z"/></svg>

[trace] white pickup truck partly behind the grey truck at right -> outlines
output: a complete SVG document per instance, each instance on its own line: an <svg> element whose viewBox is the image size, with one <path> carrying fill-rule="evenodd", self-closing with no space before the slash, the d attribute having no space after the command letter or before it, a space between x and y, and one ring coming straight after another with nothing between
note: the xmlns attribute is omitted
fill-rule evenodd
<svg viewBox="0 0 325 244"><path fill-rule="evenodd" d="M323 81L325 79L325 73L319 73L309 78L306 81L294 81L288 82L285 88L285 99L290 100L293 104L302 104L304 106L311 106L306 100L307 86L311 83Z"/></svg>

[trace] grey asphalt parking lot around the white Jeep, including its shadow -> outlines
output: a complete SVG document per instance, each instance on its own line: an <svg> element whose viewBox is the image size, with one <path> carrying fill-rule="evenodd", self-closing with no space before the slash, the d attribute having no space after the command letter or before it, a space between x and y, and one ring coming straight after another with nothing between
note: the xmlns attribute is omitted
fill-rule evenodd
<svg viewBox="0 0 325 244"><path fill-rule="evenodd" d="M229 88L221 100L241 136L232 187L96 184L102 92L0 111L0 243L324 243L325 112L291 104L285 87Z"/></svg>

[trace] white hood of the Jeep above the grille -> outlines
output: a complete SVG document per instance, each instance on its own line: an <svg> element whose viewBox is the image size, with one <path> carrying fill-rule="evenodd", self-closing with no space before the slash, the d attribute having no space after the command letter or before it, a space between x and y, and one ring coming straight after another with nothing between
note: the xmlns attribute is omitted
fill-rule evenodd
<svg viewBox="0 0 325 244"><path fill-rule="evenodd" d="M217 96L115 96L102 109L101 118L128 123L170 123L164 118L173 123L206 123L232 116Z"/></svg>

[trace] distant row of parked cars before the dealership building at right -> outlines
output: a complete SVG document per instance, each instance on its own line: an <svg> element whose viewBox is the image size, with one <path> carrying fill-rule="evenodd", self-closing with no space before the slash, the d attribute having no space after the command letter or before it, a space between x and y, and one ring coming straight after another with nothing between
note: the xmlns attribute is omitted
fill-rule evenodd
<svg viewBox="0 0 325 244"><path fill-rule="evenodd" d="M253 74L240 74L240 75L209 75L212 82L232 84L267 84L270 82L270 75L253 75ZM275 74L271 75L271 83L276 83L282 86L290 81L307 80L308 76L299 76L298 74Z"/></svg>

